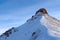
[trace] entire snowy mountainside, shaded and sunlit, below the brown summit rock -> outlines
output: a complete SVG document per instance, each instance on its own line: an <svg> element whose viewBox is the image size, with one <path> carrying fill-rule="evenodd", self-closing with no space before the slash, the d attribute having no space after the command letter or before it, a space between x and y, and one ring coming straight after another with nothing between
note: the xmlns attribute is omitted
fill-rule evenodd
<svg viewBox="0 0 60 40"><path fill-rule="evenodd" d="M23 25L2 34L0 40L60 40L59 24L59 20L38 11Z"/></svg>

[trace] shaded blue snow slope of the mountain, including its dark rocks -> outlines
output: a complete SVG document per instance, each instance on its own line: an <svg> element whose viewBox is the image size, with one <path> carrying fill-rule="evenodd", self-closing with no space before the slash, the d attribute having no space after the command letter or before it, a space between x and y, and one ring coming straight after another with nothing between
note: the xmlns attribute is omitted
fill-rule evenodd
<svg viewBox="0 0 60 40"><path fill-rule="evenodd" d="M43 12L43 13L42 13ZM0 36L0 40L60 40L60 37L48 33L44 16L47 12L38 10L18 28L11 28Z"/></svg>

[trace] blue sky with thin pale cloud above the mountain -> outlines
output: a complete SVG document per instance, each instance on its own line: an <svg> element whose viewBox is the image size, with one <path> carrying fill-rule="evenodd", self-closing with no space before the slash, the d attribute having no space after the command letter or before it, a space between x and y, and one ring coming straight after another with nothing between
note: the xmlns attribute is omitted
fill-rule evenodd
<svg viewBox="0 0 60 40"><path fill-rule="evenodd" d="M22 25L40 8L60 20L60 0L0 0L0 34Z"/></svg>

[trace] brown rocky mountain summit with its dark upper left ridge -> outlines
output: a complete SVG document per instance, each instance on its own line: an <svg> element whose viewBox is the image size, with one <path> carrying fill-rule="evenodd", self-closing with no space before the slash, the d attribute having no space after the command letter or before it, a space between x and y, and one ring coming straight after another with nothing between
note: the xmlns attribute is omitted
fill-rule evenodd
<svg viewBox="0 0 60 40"><path fill-rule="evenodd" d="M45 8L41 8L38 11L36 11L35 15L33 15L30 19L27 20L28 21L32 21L34 19L39 18L38 20L40 20L42 18L42 16L48 14L47 10Z"/></svg>

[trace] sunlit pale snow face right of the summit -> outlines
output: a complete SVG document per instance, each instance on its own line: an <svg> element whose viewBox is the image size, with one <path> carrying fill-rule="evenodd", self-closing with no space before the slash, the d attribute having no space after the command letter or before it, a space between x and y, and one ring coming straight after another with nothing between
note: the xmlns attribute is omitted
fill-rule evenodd
<svg viewBox="0 0 60 40"><path fill-rule="evenodd" d="M51 36L60 38L60 21L59 20L57 20L56 18L50 15L45 15L41 19L41 23L45 25L45 27L48 29L48 33Z"/></svg>

